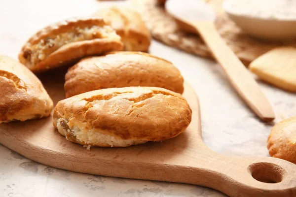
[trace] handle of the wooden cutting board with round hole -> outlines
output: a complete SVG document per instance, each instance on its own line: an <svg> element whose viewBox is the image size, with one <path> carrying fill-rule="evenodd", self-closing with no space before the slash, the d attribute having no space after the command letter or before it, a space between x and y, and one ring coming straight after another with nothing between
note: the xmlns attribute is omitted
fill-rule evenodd
<svg viewBox="0 0 296 197"><path fill-rule="evenodd" d="M210 154L213 159L206 169L196 164L187 172L192 177L189 183L212 187L231 197L296 197L295 164L269 157L235 158Z"/></svg>

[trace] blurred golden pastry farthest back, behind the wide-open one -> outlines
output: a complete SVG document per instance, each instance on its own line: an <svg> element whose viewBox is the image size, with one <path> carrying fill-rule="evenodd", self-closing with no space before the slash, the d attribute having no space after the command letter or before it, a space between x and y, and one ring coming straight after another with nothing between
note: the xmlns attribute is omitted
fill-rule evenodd
<svg viewBox="0 0 296 197"><path fill-rule="evenodd" d="M148 52L151 35L141 15L128 7L100 9L93 14L110 22L111 27L121 36L125 51Z"/></svg>

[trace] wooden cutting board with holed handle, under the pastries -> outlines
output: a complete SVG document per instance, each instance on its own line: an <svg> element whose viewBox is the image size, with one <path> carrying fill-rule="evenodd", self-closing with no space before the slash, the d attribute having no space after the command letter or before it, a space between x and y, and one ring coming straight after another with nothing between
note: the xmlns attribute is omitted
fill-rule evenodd
<svg viewBox="0 0 296 197"><path fill-rule="evenodd" d="M60 69L39 76L55 103L64 99L64 75L65 70ZM0 143L33 161L76 172L189 183L232 197L296 196L295 164L215 153L202 142L198 98L187 83L184 97L193 111L192 122L184 133L163 142L127 148L92 147L88 151L67 141L48 117L1 124Z"/></svg>

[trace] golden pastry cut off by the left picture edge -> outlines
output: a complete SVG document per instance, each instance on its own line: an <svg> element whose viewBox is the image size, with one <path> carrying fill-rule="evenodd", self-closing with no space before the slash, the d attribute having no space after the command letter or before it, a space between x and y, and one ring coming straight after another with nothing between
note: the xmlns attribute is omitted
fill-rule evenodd
<svg viewBox="0 0 296 197"><path fill-rule="evenodd" d="M41 82L26 66L0 56L0 123L46 117L52 107Z"/></svg>

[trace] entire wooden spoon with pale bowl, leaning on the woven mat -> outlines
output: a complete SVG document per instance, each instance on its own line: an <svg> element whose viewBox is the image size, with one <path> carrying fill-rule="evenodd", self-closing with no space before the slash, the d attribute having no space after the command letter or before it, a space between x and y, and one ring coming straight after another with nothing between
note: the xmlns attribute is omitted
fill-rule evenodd
<svg viewBox="0 0 296 197"><path fill-rule="evenodd" d="M165 8L182 29L200 34L232 86L259 118L263 121L273 120L273 109L256 80L217 32L214 11L201 0L167 0Z"/></svg>

